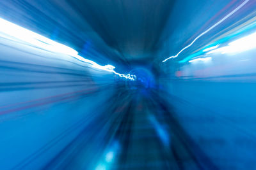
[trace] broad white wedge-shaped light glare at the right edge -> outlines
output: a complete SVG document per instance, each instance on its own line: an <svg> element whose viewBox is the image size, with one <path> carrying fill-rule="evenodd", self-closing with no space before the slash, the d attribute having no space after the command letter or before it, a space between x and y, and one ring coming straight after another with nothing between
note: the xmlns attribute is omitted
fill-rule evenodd
<svg viewBox="0 0 256 170"><path fill-rule="evenodd" d="M256 48L256 32L243 38L232 41L227 46L223 46L209 53L238 53Z"/></svg>

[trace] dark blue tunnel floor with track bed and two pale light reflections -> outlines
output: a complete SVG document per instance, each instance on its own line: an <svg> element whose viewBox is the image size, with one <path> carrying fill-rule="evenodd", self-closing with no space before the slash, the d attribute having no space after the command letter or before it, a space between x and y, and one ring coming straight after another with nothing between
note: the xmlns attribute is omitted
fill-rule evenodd
<svg viewBox="0 0 256 170"><path fill-rule="evenodd" d="M46 169L217 169L156 92L113 96Z"/></svg>

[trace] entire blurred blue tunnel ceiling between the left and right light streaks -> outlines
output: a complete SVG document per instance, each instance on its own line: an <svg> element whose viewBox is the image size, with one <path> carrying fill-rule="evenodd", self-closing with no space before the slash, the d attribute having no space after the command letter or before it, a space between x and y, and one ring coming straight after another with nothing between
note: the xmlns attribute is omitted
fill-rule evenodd
<svg viewBox="0 0 256 170"><path fill-rule="evenodd" d="M102 65L134 66L153 62L159 69L163 59L175 55L209 25L227 15L228 11L221 9L225 6L234 9L239 3L231 0L225 3L214 0L0 1L0 17L70 46L86 59ZM208 38L198 39L177 60L209 43L234 18L239 20L237 15L209 32ZM130 70L128 67L127 71Z"/></svg>

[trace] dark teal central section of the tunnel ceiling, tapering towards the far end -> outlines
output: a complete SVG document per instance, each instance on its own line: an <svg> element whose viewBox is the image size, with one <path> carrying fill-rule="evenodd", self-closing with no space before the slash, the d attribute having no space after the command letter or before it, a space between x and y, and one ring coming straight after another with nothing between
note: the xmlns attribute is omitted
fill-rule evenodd
<svg viewBox="0 0 256 170"><path fill-rule="evenodd" d="M124 60L152 59L173 1L75 1L68 4Z"/></svg>

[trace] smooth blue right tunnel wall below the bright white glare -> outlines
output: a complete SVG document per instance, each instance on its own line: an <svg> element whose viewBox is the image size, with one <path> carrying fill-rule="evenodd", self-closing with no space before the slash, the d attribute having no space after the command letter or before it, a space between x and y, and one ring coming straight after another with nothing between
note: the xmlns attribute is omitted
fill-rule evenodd
<svg viewBox="0 0 256 170"><path fill-rule="evenodd" d="M207 61L163 64L159 81L175 116L223 169L255 168L255 53L212 53Z"/></svg>

